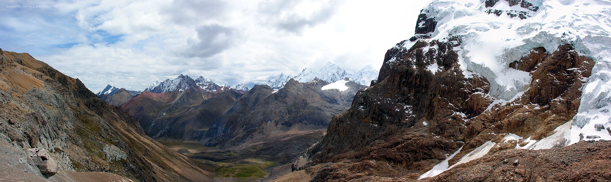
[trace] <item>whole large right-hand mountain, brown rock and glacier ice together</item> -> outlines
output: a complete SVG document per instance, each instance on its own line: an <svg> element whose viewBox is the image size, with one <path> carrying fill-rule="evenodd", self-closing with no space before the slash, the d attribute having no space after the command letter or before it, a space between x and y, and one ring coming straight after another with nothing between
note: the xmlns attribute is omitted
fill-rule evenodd
<svg viewBox="0 0 611 182"><path fill-rule="evenodd" d="M611 180L610 8L431 2L378 81L280 179Z"/></svg>

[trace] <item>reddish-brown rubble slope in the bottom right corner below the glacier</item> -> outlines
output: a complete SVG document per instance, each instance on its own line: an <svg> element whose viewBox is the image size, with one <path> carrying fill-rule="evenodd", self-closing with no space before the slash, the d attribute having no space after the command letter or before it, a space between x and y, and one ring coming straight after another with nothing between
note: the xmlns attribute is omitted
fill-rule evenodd
<svg viewBox="0 0 611 182"><path fill-rule="evenodd" d="M610 166L611 141L582 141L547 150L499 151L426 181L609 181Z"/></svg>

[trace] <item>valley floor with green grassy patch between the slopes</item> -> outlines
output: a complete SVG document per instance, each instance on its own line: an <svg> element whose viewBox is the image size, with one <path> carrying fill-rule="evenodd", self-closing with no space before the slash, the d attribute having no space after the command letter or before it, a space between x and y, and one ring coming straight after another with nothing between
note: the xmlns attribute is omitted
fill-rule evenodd
<svg viewBox="0 0 611 182"><path fill-rule="evenodd" d="M158 142L211 166L216 172L214 181L272 181L291 173L291 162L316 143L325 131L326 129L317 129L292 135L284 140L235 147L239 149L234 150L206 147L197 141Z"/></svg>

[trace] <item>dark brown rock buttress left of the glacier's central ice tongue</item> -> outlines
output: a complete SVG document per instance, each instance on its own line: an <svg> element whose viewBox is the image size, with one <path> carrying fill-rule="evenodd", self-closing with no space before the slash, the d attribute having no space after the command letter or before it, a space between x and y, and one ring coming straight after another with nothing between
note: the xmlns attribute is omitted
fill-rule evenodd
<svg viewBox="0 0 611 182"><path fill-rule="evenodd" d="M423 167L458 149L467 119L483 112L491 99L486 79L464 77L455 46L417 42L397 51L400 57L387 60L380 71L388 76L357 93L353 106L334 117L312 150L313 164L387 161L397 171L380 175L398 177L426 172ZM435 73L428 70L431 65L437 65Z"/></svg>

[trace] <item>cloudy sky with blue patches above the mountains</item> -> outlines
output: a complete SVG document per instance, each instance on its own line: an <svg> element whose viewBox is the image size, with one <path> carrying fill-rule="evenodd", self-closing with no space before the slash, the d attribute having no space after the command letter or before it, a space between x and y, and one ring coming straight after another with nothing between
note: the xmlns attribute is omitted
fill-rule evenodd
<svg viewBox="0 0 611 182"><path fill-rule="evenodd" d="M30 53L93 92L204 76L265 84L333 62L379 69L431 0L3 1L0 48Z"/></svg>

